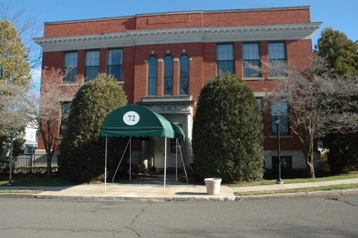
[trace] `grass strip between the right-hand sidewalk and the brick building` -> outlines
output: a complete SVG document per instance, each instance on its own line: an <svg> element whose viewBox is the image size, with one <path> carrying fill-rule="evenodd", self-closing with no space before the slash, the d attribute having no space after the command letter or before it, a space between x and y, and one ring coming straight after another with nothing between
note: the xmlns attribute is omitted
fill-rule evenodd
<svg viewBox="0 0 358 238"><path fill-rule="evenodd" d="M358 174L341 174L336 176L326 176L322 178L306 178L306 179L285 179L282 178L284 183L310 183L310 182L322 182L322 181L331 181L331 180L340 180L340 179L355 179L358 178ZM275 184L277 179L269 179L262 181L242 181L238 183L231 183L230 187L248 187L248 186L262 186L262 185L272 185Z"/></svg>

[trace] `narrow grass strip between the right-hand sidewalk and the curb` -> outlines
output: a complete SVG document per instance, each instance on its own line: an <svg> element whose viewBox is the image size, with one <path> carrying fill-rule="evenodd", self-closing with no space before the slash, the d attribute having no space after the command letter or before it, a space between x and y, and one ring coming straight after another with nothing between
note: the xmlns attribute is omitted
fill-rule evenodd
<svg viewBox="0 0 358 238"><path fill-rule="evenodd" d="M250 196L250 195L268 195L268 194L278 194L278 193L307 193L307 192L315 192L315 191L329 191L329 190L341 190L341 189L351 189L351 188L358 188L358 183L320 186L320 187L312 187L312 188L294 188L294 189L285 189L285 190L238 192L235 193L235 195Z"/></svg>

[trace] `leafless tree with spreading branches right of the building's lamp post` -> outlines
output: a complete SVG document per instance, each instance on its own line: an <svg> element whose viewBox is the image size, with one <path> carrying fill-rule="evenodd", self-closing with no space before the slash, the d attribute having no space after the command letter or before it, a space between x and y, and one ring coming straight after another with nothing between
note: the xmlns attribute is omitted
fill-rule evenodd
<svg viewBox="0 0 358 238"><path fill-rule="evenodd" d="M314 142L329 132L358 131L357 76L334 78L324 58L313 56L306 70L294 69L285 62L269 65L275 72L276 90L267 102L285 102L291 131L299 137L306 167L315 178ZM259 70L259 69L255 69ZM280 72L280 73L278 73Z"/></svg>

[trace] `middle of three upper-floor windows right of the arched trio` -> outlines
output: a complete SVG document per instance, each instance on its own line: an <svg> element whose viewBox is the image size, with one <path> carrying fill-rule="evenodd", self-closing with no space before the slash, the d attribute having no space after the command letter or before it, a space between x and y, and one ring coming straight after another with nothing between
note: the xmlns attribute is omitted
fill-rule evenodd
<svg viewBox="0 0 358 238"><path fill-rule="evenodd" d="M261 77L252 66L260 66L259 43L243 43L243 76Z"/></svg>

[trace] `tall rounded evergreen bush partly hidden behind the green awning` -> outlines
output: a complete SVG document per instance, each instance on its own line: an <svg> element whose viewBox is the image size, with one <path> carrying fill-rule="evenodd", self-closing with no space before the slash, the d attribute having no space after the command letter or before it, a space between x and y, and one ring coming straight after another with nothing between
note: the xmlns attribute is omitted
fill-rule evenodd
<svg viewBox="0 0 358 238"><path fill-rule="evenodd" d="M60 171L72 182L103 179L105 139L99 129L108 114L127 104L113 76L99 74L78 90L71 105L69 125L61 146ZM120 156L122 139L109 139L108 160ZM108 162L109 165L113 164Z"/></svg>

